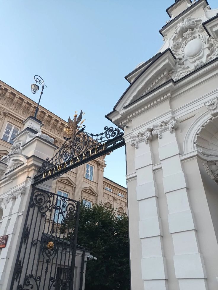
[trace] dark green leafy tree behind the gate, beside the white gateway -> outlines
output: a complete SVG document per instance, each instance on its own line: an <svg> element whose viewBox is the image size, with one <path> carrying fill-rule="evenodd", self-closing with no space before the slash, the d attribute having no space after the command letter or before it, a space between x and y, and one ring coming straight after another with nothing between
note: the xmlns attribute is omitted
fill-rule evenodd
<svg viewBox="0 0 218 290"><path fill-rule="evenodd" d="M102 204L81 204L77 243L97 260L87 262L85 290L129 290L129 234L125 214Z"/></svg>

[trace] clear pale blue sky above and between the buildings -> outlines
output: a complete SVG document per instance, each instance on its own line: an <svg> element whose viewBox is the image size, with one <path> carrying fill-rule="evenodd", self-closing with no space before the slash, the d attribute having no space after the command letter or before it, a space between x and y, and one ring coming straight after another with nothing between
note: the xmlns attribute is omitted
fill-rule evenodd
<svg viewBox="0 0 218 290"><path fill-rule="evenodd" d="M217 0L208 0L211 9ZM128 87L124 76L162 46L158 30L174 0L0 0L0 79L38 102L33 76L48 86L41 105L67 120L85 114L100 133ZM112 124L113 125L113 124ZM106 157L105 177L126 186L125 149Z"/></svg>

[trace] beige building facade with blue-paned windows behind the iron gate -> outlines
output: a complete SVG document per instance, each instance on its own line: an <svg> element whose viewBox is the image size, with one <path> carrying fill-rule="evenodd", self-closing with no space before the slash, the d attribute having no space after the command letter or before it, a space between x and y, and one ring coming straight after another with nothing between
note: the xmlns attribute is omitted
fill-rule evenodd
<svg viewBox="0 0 218 290"><path fill-rule="evenodd" d="M7 155L12 147L13 138L24 128L23 121L34 116L37 103L0 81L0 158ZM47 109L39 106L37 114L43 126L40 134L53 138L59 148L64 139L67 122ZM46 156L45 156L46 157ZM66 195L92 206L94 203L110 204L117 208L117 214L127 213L126 188L103 176L105 155L83 164L58 177L52 182L52 192Z"/></svg>

